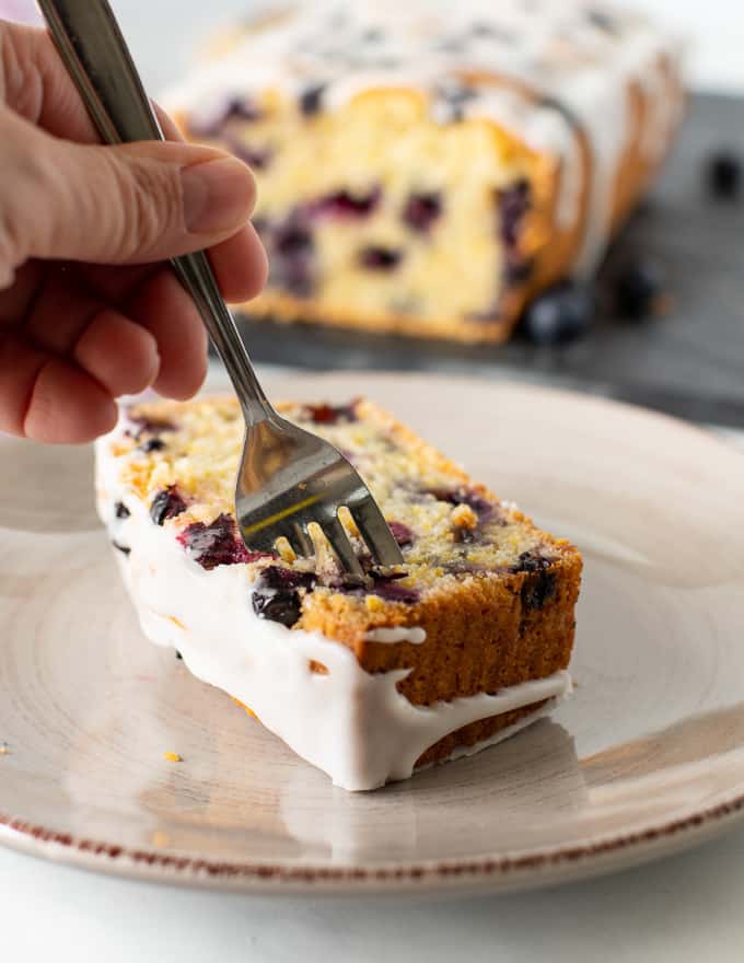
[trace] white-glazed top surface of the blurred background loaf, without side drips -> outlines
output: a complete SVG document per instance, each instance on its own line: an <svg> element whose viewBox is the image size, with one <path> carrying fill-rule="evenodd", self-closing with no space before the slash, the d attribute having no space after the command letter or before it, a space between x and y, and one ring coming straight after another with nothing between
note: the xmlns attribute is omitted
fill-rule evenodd
<svg viewBox="0 0 744 963"><path fill-rule="evenodd" d="M447 84L468 73L560 96L577 78L627 71L651 48L672 47L646 18L606 0L319 0L234 27L220 56L174 96L208 109L231 81L236 94L276 85L315 111L358 90L418 81L455 111L463 105L446 96Z"/></svg>

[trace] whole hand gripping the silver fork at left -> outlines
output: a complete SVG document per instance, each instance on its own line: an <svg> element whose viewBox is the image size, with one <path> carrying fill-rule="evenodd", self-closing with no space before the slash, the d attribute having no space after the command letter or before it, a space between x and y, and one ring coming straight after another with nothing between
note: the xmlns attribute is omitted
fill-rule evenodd
<svg viewBox="0 0 744 963"><path fill-rule="evenodd" d="M207 337L165 258L210 248L228 300L266 279L243 163L96 141L47 34L0 20L0 431L89 441L119 395L197 391Z"/></svg>

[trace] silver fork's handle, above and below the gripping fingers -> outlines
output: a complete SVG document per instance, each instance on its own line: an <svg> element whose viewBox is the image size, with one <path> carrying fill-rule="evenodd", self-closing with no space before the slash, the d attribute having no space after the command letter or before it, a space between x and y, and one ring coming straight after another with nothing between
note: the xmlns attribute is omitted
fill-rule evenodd
<svg viewBox="0 0 744 963"><path fill-rule="evenodd" d="M37 0L105 143L165 140L107 0ZM248 426L274 415L202 252L172 262L230 375Z"/></svg>

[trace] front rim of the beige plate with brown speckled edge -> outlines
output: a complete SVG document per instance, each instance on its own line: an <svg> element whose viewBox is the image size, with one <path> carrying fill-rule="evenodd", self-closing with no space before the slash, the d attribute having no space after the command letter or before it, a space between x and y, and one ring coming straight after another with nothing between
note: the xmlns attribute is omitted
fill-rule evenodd
<svg viewBox="0 0 744 963"><path fill-rule="evenodd" d="M607 833L588 844L559 846L515 857L383 863L380 867L321 867L270 861L214 861L176 856L152 847L96 842L0 813L0 846L107 875L201 890L260 895L415 895L518 892L641 866L700 845L744 822L744 790L730 800L661 826ZM617 859L618 854L620 859Z"/></svg>

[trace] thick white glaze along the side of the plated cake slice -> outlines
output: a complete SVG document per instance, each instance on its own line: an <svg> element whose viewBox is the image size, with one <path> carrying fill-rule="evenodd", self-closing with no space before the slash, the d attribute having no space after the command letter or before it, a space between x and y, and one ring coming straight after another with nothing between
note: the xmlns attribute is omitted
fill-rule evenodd
<svg viewBox="0 0 744 963"><path fill-rule="evenodd" d="M131 548L117 558L142 631L176 648L196 676L249 706L336 785L363 790L406 779L416 759L447 733L569 693L568 673L558 672L496 695L416 707L397 689L406 670L370 674L339 642L258 618L246 566L206 571L176 542L172 523L153 524L147 506L119 483L121 463L109 445L123 427L96 445L97 507L112 537ZM129 518L116 518L117 501ZM408 629L407 640L421 631ZM327 674L311 671L311 662Z"/></svg>

